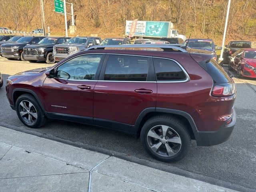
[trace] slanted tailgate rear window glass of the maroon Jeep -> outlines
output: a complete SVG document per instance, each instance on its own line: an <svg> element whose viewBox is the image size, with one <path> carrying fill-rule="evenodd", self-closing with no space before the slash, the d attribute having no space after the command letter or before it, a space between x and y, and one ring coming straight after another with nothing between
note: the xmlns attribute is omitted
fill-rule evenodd
<svg viewBox="0 0 256 192"><path fill-rule="evenodd" d="M214 83L228 83L231 81L225 70L214 59L211 58L198 63L210 74Z"/></svg>

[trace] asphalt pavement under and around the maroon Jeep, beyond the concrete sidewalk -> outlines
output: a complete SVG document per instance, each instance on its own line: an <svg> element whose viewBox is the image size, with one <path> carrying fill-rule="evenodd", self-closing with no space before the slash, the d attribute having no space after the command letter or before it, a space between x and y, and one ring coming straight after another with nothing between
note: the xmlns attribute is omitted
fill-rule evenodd
<svg viewBox="0 0 256 192"><path fill-rule="evenodd" d="M16 72L44 66L49 65L0 58L0 72L4 81ZM218 186L238 191L255 191L256 81L237 78L234 80L237 88L237 123L230 139L211 147L198 147L193 141L186 157L171 164L159 162L148 156L142 148L140 139L129 134L60 120L49 120L40 129L28 128L10 108L4 87L0 88L0 125Z"/></svg>

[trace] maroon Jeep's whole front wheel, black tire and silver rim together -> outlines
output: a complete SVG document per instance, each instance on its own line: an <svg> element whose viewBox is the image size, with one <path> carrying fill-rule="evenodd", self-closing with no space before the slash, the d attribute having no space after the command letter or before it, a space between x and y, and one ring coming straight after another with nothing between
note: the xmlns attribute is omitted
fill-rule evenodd
<svg viewBox="0 0 256 192"><path fill-rule="evenodd" d="M20 121L31 128L44 125L46 117L34 96L23 94L16 101L16 112Z"/></svg>

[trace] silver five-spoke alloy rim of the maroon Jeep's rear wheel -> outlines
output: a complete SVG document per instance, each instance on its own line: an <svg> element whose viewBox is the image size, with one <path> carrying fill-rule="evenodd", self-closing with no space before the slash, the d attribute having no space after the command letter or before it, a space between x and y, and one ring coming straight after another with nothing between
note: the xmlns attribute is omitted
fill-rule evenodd
<svg viewBox="0 0 256 192"><path fill-rule="evenodd" d="M163 157L176 155L182 145L179 134L166 125L158 125L151 128L147 134L147 141L150 149Z"/></svg>

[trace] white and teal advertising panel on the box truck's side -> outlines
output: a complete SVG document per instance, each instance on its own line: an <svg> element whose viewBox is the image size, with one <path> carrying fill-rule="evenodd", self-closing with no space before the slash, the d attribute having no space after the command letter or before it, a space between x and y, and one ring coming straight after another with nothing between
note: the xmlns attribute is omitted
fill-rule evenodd
<svg viewBox="0 0 256 192"><path fill-rule="evenodd" d="M168 37L171 22L138 21L134 36ZM132 21L126 21L126 35L130 34Z"/></svg>

